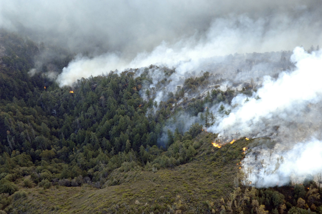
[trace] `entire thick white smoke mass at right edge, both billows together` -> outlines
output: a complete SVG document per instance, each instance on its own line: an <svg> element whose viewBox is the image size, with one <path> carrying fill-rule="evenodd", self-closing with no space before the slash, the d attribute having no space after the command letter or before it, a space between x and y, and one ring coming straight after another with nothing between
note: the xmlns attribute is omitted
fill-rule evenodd
<svg viewBox="0 0 322 214"><path fill-rule="evenodd" d="M244 103L245 96L235 97L232 112L208 128L275 141L258 143L242 161L245 179L256 187L301 183L306 175L322 172L322 52L309 54L297 47L291 61L294 71L282 72L276 80L265 78L256 92L260 99L254 95Z"/></svg>

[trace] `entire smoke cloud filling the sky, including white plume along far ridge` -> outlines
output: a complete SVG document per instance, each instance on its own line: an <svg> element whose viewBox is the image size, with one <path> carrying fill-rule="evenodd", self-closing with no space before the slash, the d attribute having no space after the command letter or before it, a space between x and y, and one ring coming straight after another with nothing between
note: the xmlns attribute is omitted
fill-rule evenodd
<svg viewBox="0 0 322 214"><path fill-rule="evenodd" d="M80 53L57 79L63 86L91 74L150 64L175 66L187 76L214 56L308 48L322 38L321 4L4 0L0 26Z"/></svg>

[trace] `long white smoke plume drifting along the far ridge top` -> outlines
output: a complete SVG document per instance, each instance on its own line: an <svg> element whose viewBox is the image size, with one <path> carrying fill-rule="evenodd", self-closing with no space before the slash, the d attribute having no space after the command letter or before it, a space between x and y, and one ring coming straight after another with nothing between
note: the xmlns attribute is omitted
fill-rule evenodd
<svg viewBox="0 0 322 214"><path fill-rule="evenodd" d="M279 18L281 20L276 17L272 20L264 18L254 20L246 15L216 18L201 38L192 36L174 44L161 42L151 52L138 52L132 60L124 59L114 53L92 59L78 58L63 70L58 81L60 85L71 85L76 79L87 77L86 74L90 72L93 75L99 75L110 70L123 71L150 64L175 67L176 76L187 78L194 76L194 71L207 69L207 64L212 63L213 60L219 60L217 56L236 52L279 51L301 45L300 42L304 41L301 34L297 32L289 35L290 30L298 30L299 23L294 26L294 20L290 20L289 17ZM280 28L280 24L285 28ZM83 67L84 64L89 65L91 70ZM180 83L174 81L173 84Z"/></svg>

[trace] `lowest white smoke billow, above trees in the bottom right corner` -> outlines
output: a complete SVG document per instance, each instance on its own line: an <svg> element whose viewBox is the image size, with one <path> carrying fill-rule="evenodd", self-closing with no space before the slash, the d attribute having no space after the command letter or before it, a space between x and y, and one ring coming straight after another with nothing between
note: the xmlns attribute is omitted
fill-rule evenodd
<svg viewBox="0 0 322 214"><path fill-rule="evenodd" d="M315 138L293 142L292 146L276 144L270 149L261 145L242 161L244 182L256 187L301 184L308 177L321 175L321 161L322 141Z"/></svg>

